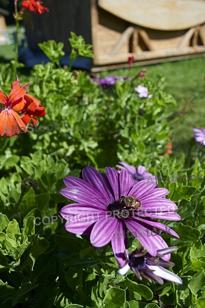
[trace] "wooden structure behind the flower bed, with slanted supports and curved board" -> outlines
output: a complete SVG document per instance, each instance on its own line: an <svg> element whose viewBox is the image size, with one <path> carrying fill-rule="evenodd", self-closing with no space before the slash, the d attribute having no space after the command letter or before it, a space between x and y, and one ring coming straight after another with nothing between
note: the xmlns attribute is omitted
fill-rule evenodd
<svg viewBox="0 0 205 308"><path fill-rule="evenodd" d="M204 0L44 0L44 5L50 12L32 15L34 31L25 24L30 50L39 52L37 43L56 40L68 57L73 31L93 45L92 71L127 67L129 56L144 65L205 53Z"/></svg>

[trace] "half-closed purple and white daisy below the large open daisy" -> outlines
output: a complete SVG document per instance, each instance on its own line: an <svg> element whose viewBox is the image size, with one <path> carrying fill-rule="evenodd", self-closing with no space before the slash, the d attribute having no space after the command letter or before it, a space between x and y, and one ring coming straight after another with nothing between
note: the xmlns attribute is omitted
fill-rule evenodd
<svg viewBox="0 0 205 308"><path fill-rule="evenodd" d="M182 284L181 278L168 271L168 269L163 268L174 266L174 263L165 260L157 260L157 258L162 258L163 256L176 251L178 247L160 249L157 251L155 258L153 258L149 253L142 253L142 249L143 247L141 245L139 246L139 249L133 253L130 253L126 249L125 256L128 262L123 267L118 269L117 273L120 275L125 275L129 269L132 269L139 280L142 280L142 277L144 277L150 283L154 280L159 284L163 284L162 279L166 279Z"/></svg>

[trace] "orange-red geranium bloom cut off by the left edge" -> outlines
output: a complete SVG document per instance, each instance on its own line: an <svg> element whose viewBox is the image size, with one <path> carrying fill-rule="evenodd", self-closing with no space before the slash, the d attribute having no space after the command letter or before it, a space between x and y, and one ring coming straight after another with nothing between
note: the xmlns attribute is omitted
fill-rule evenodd
<svg viewBox="0 0 205 308"><path fill-rule="evenodd" d="M25 90L18 82L12 83L12 90L9 96L0 91L0 104L3 106L0 108L0 135L6 135L12 137L15 134L19 134L20 128L27 131L25 123L20 119L18 113L23 109Z"/></svg>

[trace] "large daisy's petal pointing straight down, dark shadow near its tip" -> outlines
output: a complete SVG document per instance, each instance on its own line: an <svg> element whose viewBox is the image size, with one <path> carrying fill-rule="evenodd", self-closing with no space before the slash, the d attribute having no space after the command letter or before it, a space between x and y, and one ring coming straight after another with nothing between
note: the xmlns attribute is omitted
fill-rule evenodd
<svg viewBox="0 0 205 308"><path fill-rule="evenodd" d="M120 266L123 266L126 260L124 254L127 246L125 245L125 237L124 237L126 230L125 228L123 228L123 224L119 222L116 233L111 239L113 253Z"/></svg>

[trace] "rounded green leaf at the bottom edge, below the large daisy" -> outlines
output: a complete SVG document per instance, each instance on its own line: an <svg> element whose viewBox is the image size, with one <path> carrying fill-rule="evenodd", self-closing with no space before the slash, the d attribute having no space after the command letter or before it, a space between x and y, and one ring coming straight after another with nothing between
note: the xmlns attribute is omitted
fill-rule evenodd
<svg viewBox="0 0 205 308"><path fill-rule="evenodd" d="M126 301L125 290L118 287L111 287L107 290L104 298L105 308L119 308L123 307Z"/></svg>

